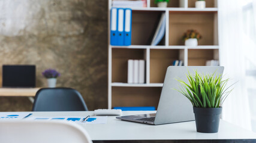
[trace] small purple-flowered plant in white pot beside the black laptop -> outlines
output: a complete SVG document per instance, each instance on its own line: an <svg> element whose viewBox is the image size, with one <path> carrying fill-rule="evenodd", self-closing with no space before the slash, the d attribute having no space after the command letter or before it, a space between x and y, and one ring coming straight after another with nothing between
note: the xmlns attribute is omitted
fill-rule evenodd
<svg viewBox="0 0 256 143"><path fill-rule="evenodd" d="M59 72L54 69L45 70L42 74L47 79L48 87L55 88L56 82L57 82L57 77L59 77L61 74L59 74Z"/></svg>

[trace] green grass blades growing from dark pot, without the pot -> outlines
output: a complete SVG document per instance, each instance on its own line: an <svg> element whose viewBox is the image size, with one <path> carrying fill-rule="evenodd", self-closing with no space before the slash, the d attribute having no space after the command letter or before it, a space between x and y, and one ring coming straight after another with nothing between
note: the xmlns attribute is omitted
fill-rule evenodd
<svg viewBox="0 0 256 143"><path fill-rule="evenodd" d="M204 75L197 71L195 71L195 74L191 74L188 71L186 77L189 81L188 84L182 79L176 79L181 86L180 90L175 90L188 98L194 107L219 108L233 90L228 91L234 84L226 88L229 79L222 79L222 74Z"/></svg>

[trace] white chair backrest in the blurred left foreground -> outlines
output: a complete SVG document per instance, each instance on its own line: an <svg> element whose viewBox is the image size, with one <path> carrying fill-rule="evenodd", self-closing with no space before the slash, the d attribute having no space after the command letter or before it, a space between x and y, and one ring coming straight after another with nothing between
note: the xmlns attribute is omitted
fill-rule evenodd
<svg viewBox="0 0 256 143"><path fill-rule="evenodd" d="M60 121L1 121L0 142L92 143L82 126Z"/></svg>

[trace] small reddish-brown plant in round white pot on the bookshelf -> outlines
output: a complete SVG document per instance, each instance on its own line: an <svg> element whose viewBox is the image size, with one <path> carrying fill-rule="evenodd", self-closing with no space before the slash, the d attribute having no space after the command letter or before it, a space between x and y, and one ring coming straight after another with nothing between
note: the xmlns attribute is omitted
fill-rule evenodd
<svg viewBox="0 0 256 143"><path fill-rule="evenodd" d="M182 36L182 40L185 41L186 46L197 46L198 40L201 38L202 36L197 32L197 30L192 29L187 30Z"/></svg>

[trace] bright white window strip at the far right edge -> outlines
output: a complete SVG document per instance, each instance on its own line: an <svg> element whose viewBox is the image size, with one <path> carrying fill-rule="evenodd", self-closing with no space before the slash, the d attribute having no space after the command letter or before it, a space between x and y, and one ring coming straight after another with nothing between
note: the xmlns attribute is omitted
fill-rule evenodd
<svg viewBox="0 0 256 143"><path fill-rule="evenodd" d="M254 4L255 3L255 4ZM243 0L243 48L252 130L256 132L256 0Z"/></svg>

